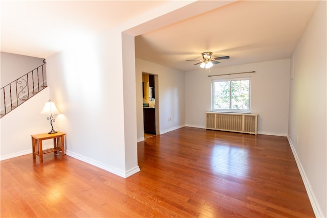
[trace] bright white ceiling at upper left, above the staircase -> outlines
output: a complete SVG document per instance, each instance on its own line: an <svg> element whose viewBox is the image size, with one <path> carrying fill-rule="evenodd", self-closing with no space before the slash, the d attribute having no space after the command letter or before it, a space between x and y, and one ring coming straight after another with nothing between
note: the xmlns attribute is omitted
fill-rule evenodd
<svg viewBox="0 0 327 218"><path fill-rule="evenodd" d="M1 0L1 51L47 58L165 3Z"/></svg>

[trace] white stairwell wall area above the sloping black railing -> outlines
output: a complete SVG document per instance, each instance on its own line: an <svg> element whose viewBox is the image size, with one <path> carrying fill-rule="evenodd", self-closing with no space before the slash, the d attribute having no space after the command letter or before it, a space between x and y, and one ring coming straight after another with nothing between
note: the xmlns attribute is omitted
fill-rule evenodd
<svg viewBox="0 0 327 218"><path fill-rule="evenodd" d="M1 52L1 87L43 64L43 58Z"/></svg>

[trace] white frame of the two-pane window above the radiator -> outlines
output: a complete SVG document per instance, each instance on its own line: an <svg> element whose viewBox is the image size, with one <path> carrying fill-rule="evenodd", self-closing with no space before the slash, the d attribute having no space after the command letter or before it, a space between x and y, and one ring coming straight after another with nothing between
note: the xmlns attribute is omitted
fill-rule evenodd
<svg viewBox="0 0 327 218"><path fill-rule="evenodd" d="M229 109L215 109L215 82L223 82L223 81L239 81L239 80L249 80L249 109L248 110L236 110L231 109L231 91L229 91ZM229 87L230 89L231 87ZM211 111L212 112L225 112L225 113L251 113L251 77L243 77L243 78L230 78L230 79L214 79L211 81Z"/></svg>

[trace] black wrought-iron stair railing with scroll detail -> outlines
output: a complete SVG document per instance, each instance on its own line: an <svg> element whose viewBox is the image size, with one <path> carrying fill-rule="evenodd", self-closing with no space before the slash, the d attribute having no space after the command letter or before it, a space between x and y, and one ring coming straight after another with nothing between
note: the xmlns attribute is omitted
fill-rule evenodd
<svg viewBox="0 0 327 218"><path fill-rule="evenodd" d="M45 60L43 63L0 89L0 118L47 87Z"/></svg>

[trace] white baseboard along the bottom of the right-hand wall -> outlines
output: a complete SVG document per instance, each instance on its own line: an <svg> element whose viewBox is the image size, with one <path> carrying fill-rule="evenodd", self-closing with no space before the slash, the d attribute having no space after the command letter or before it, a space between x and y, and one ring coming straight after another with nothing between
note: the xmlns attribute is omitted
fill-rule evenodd
<svg viewBox="0 0 327 218"><path fill-rule="evenodd" d="M293 146L293 143L292 143L292 140L289 136L287 136L287 139L288 139L288 142L290 144L290 147L291 147L291 150L292 150L292 153L293 153L293 156L295 158L295 162L296 162L296 165L297 165L297 168L299 169L299 172L300 172L300 175L302 177L302 180L303 180L303 183L305 184L305 187L306 187L306 190L307 190L307 193L308 193L308 196L309 196L309 200L310 200L310 203L311 203L311 206L312 206L312 209L313 209L313 212L315 213L316 217L324 217L323 216L323 213L322 213L322 210L321 208L319 207L319 204L317 203L317 199L314 195L314 193L312 192L312 188L311 188L311 185L310 185L310 182L309 182L309 179L302 167L302 164L296 154L296 150Z"/></svg>

